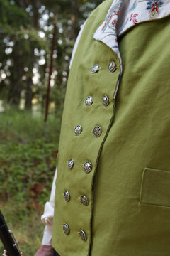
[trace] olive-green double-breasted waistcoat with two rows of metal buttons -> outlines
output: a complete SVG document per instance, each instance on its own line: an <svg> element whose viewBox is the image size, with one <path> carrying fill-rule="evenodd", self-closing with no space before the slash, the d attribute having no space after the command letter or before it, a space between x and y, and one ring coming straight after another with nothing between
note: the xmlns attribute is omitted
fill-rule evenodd
<svg viewBox="0 0 170 256"><path fill-rule="evenodd" d="M93 38L111 3L88 19L69 74L52 243L60 256L168 256L170 18L140 23L118 39L123 76L113 100L120 60ZM91 73L95 64L100 70ZM86 106L88 96L93 103ZM84 171L86 162L92 168Z"/></svg>

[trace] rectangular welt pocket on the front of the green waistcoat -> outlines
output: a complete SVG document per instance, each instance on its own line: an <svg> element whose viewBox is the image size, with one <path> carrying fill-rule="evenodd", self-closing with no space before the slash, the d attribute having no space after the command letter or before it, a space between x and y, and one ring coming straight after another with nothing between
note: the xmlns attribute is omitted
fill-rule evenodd
<svg viewBox="0 0 170 256"><path fill-rule="evenodd" d="M170 207L170 171L149 167L143 170L140 204Z"/></svg>

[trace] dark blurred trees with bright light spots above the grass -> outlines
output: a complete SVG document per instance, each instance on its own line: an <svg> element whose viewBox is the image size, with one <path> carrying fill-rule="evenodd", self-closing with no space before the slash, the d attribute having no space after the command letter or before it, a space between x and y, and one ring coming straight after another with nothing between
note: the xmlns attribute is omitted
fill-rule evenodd
<svg viewBox="0 0 170 256"><path fill-rule="evenodd" d="M63 105L72 48L82 23L102 0L0 0L0 100L31 108L33 102L45 105L48 66L54 17L57 34L53 54L52 87L62 95L58 102L50 95L56 110Z"/></svg>

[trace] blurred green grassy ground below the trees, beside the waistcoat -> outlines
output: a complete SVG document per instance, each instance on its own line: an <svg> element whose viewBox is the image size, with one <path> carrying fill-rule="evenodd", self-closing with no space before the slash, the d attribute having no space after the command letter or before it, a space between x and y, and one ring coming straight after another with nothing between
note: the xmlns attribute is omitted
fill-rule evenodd
<svg viewBox="0 0 170 256"><path fill-rule="evenodd" d="M40 221L55 173L60 118L26 111L0 114L0 209L23 255L34 255L44 228ZM3 252L0 245L0 255Z"/></svg>

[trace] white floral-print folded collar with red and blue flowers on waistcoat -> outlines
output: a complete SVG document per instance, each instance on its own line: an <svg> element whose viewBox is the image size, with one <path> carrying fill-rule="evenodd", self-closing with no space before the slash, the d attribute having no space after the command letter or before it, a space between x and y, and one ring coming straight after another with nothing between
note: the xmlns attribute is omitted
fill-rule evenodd
<svg viewBox="0 0 170 256"><path fill-rule="evenodd" d="M169 15L170 0L113 0L105 21L94 33L94 39L105 43L120 59L121 73L114 98L118 92L118 85L123 73L118 36L121 36L138 23L157 20Z"/></svg>

